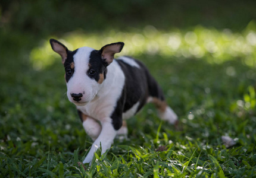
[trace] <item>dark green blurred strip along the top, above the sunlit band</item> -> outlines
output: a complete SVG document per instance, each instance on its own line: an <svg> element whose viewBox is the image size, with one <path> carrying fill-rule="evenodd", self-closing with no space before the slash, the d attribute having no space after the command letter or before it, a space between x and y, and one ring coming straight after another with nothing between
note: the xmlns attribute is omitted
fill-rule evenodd
<svg viewBox="0 0 256 178"><path fill-rule="evenodd" d="M171 30L201 24L241 31L254 19L255 1L1 1L1 23L6 30L38 35L147 25Z"/></svg>

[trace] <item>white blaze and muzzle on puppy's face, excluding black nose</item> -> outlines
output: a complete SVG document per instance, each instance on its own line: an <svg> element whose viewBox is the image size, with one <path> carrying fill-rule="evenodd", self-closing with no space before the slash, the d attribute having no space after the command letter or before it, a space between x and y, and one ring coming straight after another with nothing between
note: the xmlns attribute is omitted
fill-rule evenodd
<svg viewBox="0 0 256 178"><path fill-rule="evenodd" d="M68 100L77 106L82 106L91 101L99 90L99 84L87 75L89 69L90 53L94 49L90 47L81 47L73 56L74 74L67 82ZM79 102L74 101L71 94L83 94Z"/></svg>

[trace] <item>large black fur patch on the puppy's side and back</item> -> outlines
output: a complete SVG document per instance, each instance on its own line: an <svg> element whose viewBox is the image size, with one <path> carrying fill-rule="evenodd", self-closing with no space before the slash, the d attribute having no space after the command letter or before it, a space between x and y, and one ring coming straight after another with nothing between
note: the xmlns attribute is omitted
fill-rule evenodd
<svg viewBox="0 0 256 178"><path fill-rule="evenodd" d="M115 130L121 128L123 113L131 109L138 101L140 104L136 112L139 112L146 104L146 100L149 96L164 101L163 91L142 62L136 61L140 68L130 66L118 59L117 62L124 72L125 83L122 95L118 99L115 110L111 115Z"/></svg>

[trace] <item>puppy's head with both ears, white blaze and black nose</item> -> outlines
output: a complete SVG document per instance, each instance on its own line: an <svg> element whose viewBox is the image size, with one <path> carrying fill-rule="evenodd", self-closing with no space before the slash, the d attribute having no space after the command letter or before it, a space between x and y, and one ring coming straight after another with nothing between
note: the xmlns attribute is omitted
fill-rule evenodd
<svg viewBox="0 0 256 178"><path fill-rule="evenodd" d="M55 39L50 40L65 68L67 97L77 106L84 106L93 100L104 82L107 66L113 62L114 54L121 52L124 43L111 43L100 50L80 47L70 51Z"/></svg>

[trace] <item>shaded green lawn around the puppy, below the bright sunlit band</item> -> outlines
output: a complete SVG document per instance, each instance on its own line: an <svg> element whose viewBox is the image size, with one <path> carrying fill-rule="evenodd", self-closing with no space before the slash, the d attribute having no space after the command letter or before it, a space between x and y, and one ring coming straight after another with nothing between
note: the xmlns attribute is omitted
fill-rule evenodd
<svg viewBox="0 0 256 178"><path fill-rule="evenodd" d="M187 32L180 32L182 41ZM223 36L219 31L211 33L214 39ZM232 35L246 39L248 34ZM72 43L71 38L64 38ZM161 122L148 104L127 120L129 139L116 140L101 157L97 152L92 166L85 169L78 163L92 141L83 131L75 106L65 96L61 61L53 56L51 65L47 60L41 61L46 64L35 64L35 59L42 57L32 58L33 53L45 45L32 48L32 39L27 40L16 41L15 53L4 45L1 49L0 177L255 176L255 50L247 55L240 50L236 56L223 53L221 58L206 50L201 58L170 51L164 55L145 50L145 55L135 53L163 87L168 104L179 115L180 129ZM96 44L98 39L92 37L90 42ZM187 49L188 44L181 44L177 53ZM251 47L255 49L253 44ZM51 56L48 50L43 52L39 54ZM248 58L252 62L248 63ZM235 139L236 145L226 148L223 135Z"/></svg>

